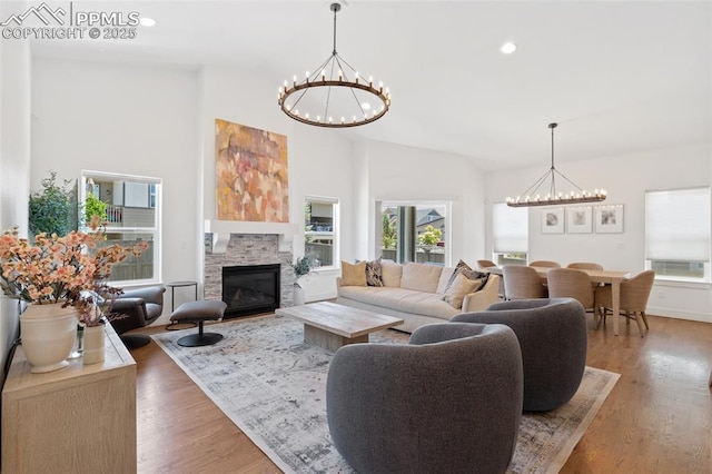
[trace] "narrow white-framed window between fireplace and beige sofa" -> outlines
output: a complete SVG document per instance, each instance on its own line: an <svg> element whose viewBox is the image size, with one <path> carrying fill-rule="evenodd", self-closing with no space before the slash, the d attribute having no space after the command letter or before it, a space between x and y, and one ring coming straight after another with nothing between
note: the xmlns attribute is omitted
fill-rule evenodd
<svg viewBox="0 0 712 474"><path fill-rule="evenodd" d="M307 197L304 205L304 253L318 266L333 267L338 257L338 199Z"/></svg>

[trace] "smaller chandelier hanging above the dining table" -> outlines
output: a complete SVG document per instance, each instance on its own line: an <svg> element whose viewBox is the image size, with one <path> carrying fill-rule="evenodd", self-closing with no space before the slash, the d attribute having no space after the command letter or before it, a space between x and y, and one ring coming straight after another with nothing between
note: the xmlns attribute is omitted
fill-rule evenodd
<svg viewBox="0 0 712 474"><path fill-rule="evenodd" d="M552 130L552 167L541 177L538 178L532 186L528 187L526 191L524 191L524 198L517 196L515 199L507 197L507 206L511 207L530 207L530 206L553 206L561 204L581 204L581 203L600 203L605 200L606 192L605 190L595 189L593 192L589 192L585 189L582 189L571 179L566 178L564 175L558 172L554 167L554 129L558 126L558 124L548 124L548 128ZM556 175L568 181L571 185L576 188L568 194L557 192L556 191ZM548 192L546 196L542 197L541 194L532 195L545 184L548 182Z"/></svg>

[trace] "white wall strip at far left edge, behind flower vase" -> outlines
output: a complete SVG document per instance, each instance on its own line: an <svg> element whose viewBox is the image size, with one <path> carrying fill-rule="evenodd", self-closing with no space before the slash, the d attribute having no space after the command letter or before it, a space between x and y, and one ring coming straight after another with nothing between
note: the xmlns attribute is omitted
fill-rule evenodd
<svg viewBox="0 0 712 474"><path fill-rule="evenodd" d="M0 6L0 18L9 12ZM20 226L28 231L30 194L30 46L0 41L0 231ZM19 304L0 297L0 363L4 367L18 337ZM0 381L4 374L0 374Z"/></svg>

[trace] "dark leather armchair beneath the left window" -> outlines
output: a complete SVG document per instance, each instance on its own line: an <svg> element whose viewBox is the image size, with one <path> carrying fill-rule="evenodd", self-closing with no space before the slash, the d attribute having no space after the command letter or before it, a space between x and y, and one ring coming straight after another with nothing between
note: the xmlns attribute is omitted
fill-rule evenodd
<svg viewBox="0 0 712 474"><path fill-rule="evenodd" d="M148 326L158 319L164 312L165 292L166 288L162 286L130 289L123 292L113 302L113 312L122 314L123 317L112 320L111 326L129 349L145 346L150 342L148 336L125 335L123 333Z"/></svg>

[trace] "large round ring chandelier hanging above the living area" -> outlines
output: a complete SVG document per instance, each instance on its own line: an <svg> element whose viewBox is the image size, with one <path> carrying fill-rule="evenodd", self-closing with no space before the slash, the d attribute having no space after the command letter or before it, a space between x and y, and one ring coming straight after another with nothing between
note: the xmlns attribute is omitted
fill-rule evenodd
<svg viewBox="0 0 712 474"><path fill-rule="evenodd" d="M345 128L370 124L383 117L390 107L390 92L383 82L374 87L373 78L364 79L336 52L336 13L339 3L332 3L334 12L334 50L315 72L305 75L301 82L294 76L291 86L285 81L279 88L277 103L293 119L317 127ZM310 92L307 95L307 92Z"/></svg>

